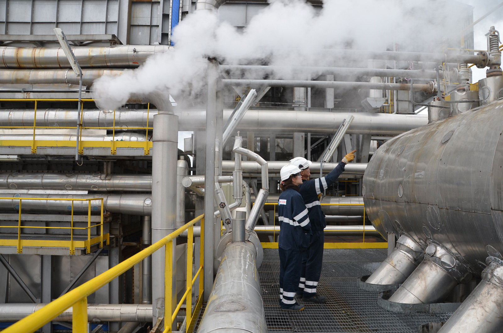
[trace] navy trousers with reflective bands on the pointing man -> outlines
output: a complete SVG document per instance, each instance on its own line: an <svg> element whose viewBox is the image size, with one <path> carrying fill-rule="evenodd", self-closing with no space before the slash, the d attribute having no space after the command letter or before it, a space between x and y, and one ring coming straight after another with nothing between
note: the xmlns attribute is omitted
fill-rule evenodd
<svg viewBox="0 0 503 333"><path fill-rule="evenodd" d="M325 240L323 230L312 230L309 247L306 251L306 282L304 284L303 297L312 297L316 294L323 265L323 242Z"/></svg>

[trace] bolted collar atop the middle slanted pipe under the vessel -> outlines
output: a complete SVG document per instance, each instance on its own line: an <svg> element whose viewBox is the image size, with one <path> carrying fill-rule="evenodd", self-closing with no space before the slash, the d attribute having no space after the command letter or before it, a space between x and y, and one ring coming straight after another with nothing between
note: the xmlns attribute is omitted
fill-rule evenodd
<svg viewBox="0 0 503 333"><path fill-rule="evenodd" d="M456 258L454 254L439 244L428 244L425 249L425 260L442 268L458 283L466 283L472 278L468 265L462 262L459 257Z"/></svg>

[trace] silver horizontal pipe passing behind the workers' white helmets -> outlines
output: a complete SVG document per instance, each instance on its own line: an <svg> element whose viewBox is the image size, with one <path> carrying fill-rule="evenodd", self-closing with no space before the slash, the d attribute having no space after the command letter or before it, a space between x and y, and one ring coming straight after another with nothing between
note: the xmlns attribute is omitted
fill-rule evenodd
<svg viewBox="0 0 503 333"><path fill-rule="evenodd" d="M281 171L281 168L288 164L289 161L268 161L269 173L277 174ZM323 163L323 172L329 173L332 169L336 168L339 163ZM320 162L312 162L309 166L311 173L319 172ZM367 163L348 163L343 172L343 175L363 175L365 169L367 168ZM241 161L241 169L243 173L246 174L260 174L261 165L256 161ZM223 160L222 161L222 172L232 172L234 170L234 161Z"/></svg>

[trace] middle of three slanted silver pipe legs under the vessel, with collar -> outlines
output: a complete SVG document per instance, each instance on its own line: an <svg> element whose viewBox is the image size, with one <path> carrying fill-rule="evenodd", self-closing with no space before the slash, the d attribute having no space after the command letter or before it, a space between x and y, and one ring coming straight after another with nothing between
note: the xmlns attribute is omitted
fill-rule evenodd
<svg viewBox="0 0 503 333"><path fill-rule="evenodd" d="M441 245L430 243L424 257L423 262L389 298L390 302L442 302L458 283L466 283L472 277L466 265Z"/></svg>

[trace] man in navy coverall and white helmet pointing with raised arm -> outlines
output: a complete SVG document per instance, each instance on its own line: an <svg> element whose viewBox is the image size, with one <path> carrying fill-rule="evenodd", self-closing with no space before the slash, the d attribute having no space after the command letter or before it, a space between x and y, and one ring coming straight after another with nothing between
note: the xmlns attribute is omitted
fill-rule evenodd
<svg viewBox="0 0 503 333"><path fill-rule="evenodd" d="M353 150L347 154L342 161L328 175L322 178L310 180L309 165L311 161L304 157L295 157L290 161L291 165L297 166L301 172L302 185L299 186L300 194L304 199L304 204L309 211L309 220L311 223L311 237L309 246L304 253L300 282L297 294L302 295L302 301L324 303L325 296L316 293L319 277L321 275L321 266L323 262L323 243L325 240L323 229L326 226L325 214L321 210L318 195L332 185L339 175L344 171L345 165L355 158Z"/></svg>

